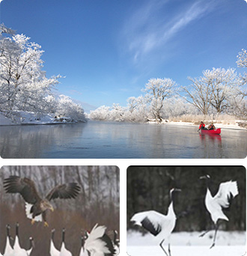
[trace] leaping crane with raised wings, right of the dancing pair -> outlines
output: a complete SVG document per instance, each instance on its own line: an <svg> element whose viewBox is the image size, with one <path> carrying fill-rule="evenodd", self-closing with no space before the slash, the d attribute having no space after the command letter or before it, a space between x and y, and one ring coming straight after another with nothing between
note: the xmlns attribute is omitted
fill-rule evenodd
<svg viewBox="0 0 247 256"><path fill-rule="evenodd" d="M228 217L223 213L222 208L228 208L230 206L230 201L236 195L238 195L237 181L227 181L219 185L219 191L213 197L210 192L210 175L202 176L200 179L206 179L207 182L207 193L205 197L206 208L210 213L211 219L215 225L215 234L213 237L213 244L210 246L210 249L216 245L216 234L219 228L217 223L219 219L225 219L229 221ZM204 232L207 234L208 231ZM201 234L200 237L203 237L204 234Z"/></svg>

